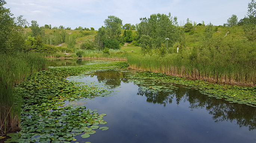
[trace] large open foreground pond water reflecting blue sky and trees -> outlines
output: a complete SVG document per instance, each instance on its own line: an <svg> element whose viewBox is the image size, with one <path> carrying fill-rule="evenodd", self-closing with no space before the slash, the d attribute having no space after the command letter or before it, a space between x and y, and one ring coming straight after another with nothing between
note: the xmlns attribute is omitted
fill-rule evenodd
<svg viewBox="0 0 256 143"><path fill-rule="evenodd" d="M87 72L69 81L114 91L108 97L66 104L84 105L107 116L107 131L76 142L256 142L256 108L207 97L183 85L138 78L128 70Z"/></svg>

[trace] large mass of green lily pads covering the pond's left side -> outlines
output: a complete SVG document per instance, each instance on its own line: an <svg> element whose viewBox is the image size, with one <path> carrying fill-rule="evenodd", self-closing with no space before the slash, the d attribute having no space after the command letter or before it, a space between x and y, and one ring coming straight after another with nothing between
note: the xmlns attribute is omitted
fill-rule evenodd
<svg viewBox="0 0 256 143"><path fill-rule="evenodd" d="M121 65L121 66L120 66ZM22 96L21 131L10 133L10 142L70 143L75 136L89 137L95 130L107 130L103 120L106 114L84 106L65 104L84 98L109 95L111 91L93 84L70 82L66 78L85 71L115 69L127 65L124 62L95 64L76 67L50 68L31 75L16 88ZM102 126L102 127L100 127Z"/></svg>

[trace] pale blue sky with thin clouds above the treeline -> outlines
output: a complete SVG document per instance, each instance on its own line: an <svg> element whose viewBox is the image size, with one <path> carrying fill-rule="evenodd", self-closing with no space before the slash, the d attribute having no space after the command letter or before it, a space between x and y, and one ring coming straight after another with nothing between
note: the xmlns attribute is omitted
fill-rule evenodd
<svg viewBox="0 0 256 143"><path fill-rule="evenodd" d="M141 17L170 12L178 18L180 26L186 19L205 24L223 25L235 14L238 21L247 15L251 0L6 0L15 17L23 15L31 25L36 20L39 26L60 25L64 27L93 27L98 30L104 26L108 16L123 20L123 25L140 23Z"/></svg>

